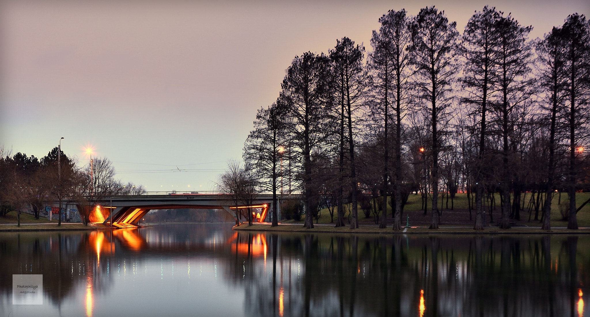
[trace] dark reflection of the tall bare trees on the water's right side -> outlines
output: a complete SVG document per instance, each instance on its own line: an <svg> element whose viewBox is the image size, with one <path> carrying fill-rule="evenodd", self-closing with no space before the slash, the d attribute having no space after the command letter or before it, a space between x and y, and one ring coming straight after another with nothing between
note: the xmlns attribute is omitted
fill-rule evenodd
<svg viewBox="0 0 590 317"><path fill-rule="evenodd" d="M250 316L555 315L590 280L563 237L268 234L266 260L255 234L237 241L250 252L232 252L226 273Z"/></svg>

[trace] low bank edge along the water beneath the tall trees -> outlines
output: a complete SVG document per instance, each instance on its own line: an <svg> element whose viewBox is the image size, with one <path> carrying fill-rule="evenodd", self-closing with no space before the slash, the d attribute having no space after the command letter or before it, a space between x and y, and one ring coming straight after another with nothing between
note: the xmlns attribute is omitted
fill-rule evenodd
<svg viewBox="0 0 590 317"><path fill-rule="evenodd" d="M325 229L320 229L325 228ZM360 227L358 229L350 230L348 226L345 227L332 227L332 226L316 226L313 229L306 229L297 225L278 225L278 227L271 227L270 224L242 224L238 227L233 227L232 230L240 231L278 231L278 232L296 232L296 233L360 233L360 234L590 234L590 228L581 228L578 230L566 229L566 228L554 228L550 231L541 230L535 227L513 227L510 229L500 228L486 228L483 231L473 230L472 227L440 227L432 230L428 227L411 227L407 228L404 232L405 227L402 231L393 231L391 227L380 229L379 227Z"/></svg>

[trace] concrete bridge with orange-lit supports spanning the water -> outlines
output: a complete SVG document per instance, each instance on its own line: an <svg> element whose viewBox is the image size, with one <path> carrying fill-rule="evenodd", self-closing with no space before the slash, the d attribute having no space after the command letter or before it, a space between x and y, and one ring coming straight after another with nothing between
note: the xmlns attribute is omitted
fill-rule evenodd
<svg viewBox="0 0 590 317"><path fill-rule="evenodd" d="M293 199L293 197L289 197L289 199ZM251 204L247 205L235 205L232 196L227 194L126 195L110 197L109 201L105 201L101 208L111 208L109 217L104 220L104 224L110 224L112 219L113 226L129 228L137 227L139 220L150 210L178 208L223 209L236 220L238 220L237 210L253 208L256 213L256 221L263 222L266 220L268 209L272 203L272 195L258 195L251 201Z"/></svg>

